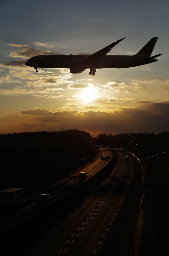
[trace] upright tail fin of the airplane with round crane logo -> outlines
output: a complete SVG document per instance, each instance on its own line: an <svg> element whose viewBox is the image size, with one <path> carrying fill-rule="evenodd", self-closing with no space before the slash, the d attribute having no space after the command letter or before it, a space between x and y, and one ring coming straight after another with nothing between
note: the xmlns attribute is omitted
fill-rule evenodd
<svg viewBox="0 0 169 256"><path fill-rule="evenodd" d="M146 45L144 45L144 47L139 52L137 52L135 56L137 55L143 58L149 58L152 54L157 39L158 37L151 38L151 40Z"/></svg>

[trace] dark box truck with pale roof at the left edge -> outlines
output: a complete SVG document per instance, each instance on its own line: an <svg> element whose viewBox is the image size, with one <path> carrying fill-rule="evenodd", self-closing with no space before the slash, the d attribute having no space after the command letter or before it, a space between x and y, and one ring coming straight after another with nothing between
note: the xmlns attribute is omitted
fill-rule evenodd
<svg viewBox="0 0 169 256"><path fill-rule="evenodd" d="M0 191L0 208L12 208L25 204L23 188L8 188Z"/></svg>

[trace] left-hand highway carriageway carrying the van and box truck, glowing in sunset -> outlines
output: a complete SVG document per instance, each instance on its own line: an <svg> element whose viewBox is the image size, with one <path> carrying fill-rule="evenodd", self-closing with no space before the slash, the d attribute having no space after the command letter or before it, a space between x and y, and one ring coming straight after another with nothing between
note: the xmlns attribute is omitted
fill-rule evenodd
<svg viewBox="0 0 169 256"><path fill-rule="evenodd" d="M67 177L58 180L55 183L48 182L46 186L46 182L44 185L44 188L40 191L37 191L34 194L31 194L29 197L27 197L25 200L25 205L21 209L13 210L7 210L7 211L1 211L0 212L0 236L4 235L5 233L9 232L11 229L19 225L21 222L29 219L34 218L34 216L37 216L39 214L43 214L43 209L37 209L37 198L40 193L48 193L51 194L53 197L52 204L55 204L59 199L62 200L62 198L71 193L71 191L75 191L80 184L78 184L78 177L80 172L86 172L88 180L91 176L98 173L102 168L104 168L108 162L110 161L104 161L100 159L100 156L106 156L110 155L110 158L112 157L111 151L106 151L106 148L104 148L105 151L103 151L103 148L99 148L99 154L97 157L95 157L90 163L85 164L84 166L72 171ZM39 184L38 184L39 185Z"/></svg>

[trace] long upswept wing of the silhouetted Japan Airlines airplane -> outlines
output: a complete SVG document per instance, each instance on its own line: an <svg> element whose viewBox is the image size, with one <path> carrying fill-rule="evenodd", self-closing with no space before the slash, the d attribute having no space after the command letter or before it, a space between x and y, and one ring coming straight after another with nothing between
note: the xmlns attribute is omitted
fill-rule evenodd
<svg viewBox="0 0 169 256"><path fill-rule="evenodd" d="M110 44L110 45L108 45L108 46L106 46L106 47L104 47L104 48L101 49L100 51L97 51L97 52L95 52L95 53L93 53L93 54L91 54L91 55L85 57L84 59L87 60L87 61L91 61L91 60L94 60L94 59L96 60L96 59L102 58L104 55L107 54L107 52L110 52L111 49L112 49L115 45L117 45L120 41L122 41L123 39L125 39L125 37L122 38L122 39L120 39L120 40L115 41L114 43L112 43L112 44Z"/></svg>

